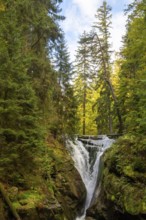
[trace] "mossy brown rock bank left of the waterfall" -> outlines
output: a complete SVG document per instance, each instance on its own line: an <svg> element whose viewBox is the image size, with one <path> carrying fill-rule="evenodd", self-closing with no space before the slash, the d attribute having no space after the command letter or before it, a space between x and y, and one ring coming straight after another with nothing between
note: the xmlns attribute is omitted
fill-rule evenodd
<svg viewBox="0 0 146 220"><path fill-rule="evenodd" d="M74 220L86 190L67 150L49 140L46 154L36 160L40 166L25 177L25 187L3 183L13 207L22 220ZM0 195L0 220L13 219Z"/></svg>

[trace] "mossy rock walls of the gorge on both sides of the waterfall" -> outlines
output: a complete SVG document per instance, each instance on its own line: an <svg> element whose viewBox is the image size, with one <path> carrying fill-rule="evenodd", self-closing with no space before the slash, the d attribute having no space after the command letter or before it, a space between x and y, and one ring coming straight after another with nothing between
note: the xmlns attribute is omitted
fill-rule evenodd
<svg viewBox="0 0 146 220"><path fill-rule="evenodd" d="M102 156L100 193L98 184L86 220L146 219L145 150L139 140L141 151L135 152L135 142L133 137L124 136L106 149ZM93 147L87 148L93 156ZM86 188L67 149L49 138L42 155L36 158L39 167L30 173L20 169L15 181L16 173L13 174L13 183L10 177L1 181L10 200L9 205L1 192L1 220L75 220L83 213Z"/></svg>

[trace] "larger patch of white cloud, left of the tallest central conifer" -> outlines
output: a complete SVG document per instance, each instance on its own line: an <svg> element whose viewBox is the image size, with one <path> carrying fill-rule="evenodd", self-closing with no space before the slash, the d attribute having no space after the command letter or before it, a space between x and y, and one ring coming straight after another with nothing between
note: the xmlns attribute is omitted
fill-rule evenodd
<svg viewBox="0 0 146 220"><path fill-rule="evenodd" d="M61 26L66 34L72 60L79 36L84 30L91 29L100 2L101 0L71 0L69 4L66 2L68 5L64 10L66 19Z"/></svg>

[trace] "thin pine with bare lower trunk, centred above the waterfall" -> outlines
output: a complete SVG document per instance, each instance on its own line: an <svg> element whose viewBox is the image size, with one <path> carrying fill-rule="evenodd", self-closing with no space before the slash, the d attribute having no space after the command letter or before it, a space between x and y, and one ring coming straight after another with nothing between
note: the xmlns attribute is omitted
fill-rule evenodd
<svg viewBox="0 0 146 220"><path fill-rule="evenodd" d="M84 32L79 40L79 46L76 55L76 83L75 90L78 97L78 102L81 104L81 121L82 121L82 134L86 134L86 104L87 104L87 90L90 84L90 38L89 35Z"/></svg>

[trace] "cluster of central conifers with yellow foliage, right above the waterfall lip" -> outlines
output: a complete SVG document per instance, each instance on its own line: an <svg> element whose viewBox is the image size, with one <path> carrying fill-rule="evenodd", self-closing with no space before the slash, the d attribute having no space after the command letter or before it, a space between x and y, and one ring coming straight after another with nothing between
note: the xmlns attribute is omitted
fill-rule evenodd
<svg viewBox="0 0 146 220"><path fill-rule="evenodd" d="M83 134L117 132L117 121L119 130L122 130L121 114L111 82L111 8L106 1L97 10L95 17L94 29L90 34L84 32L81 35L76 55L74 87L79 103L79 132ZM92 103L91 94L94 96ZM94 128L91 129L91 126Z"/></svg>

